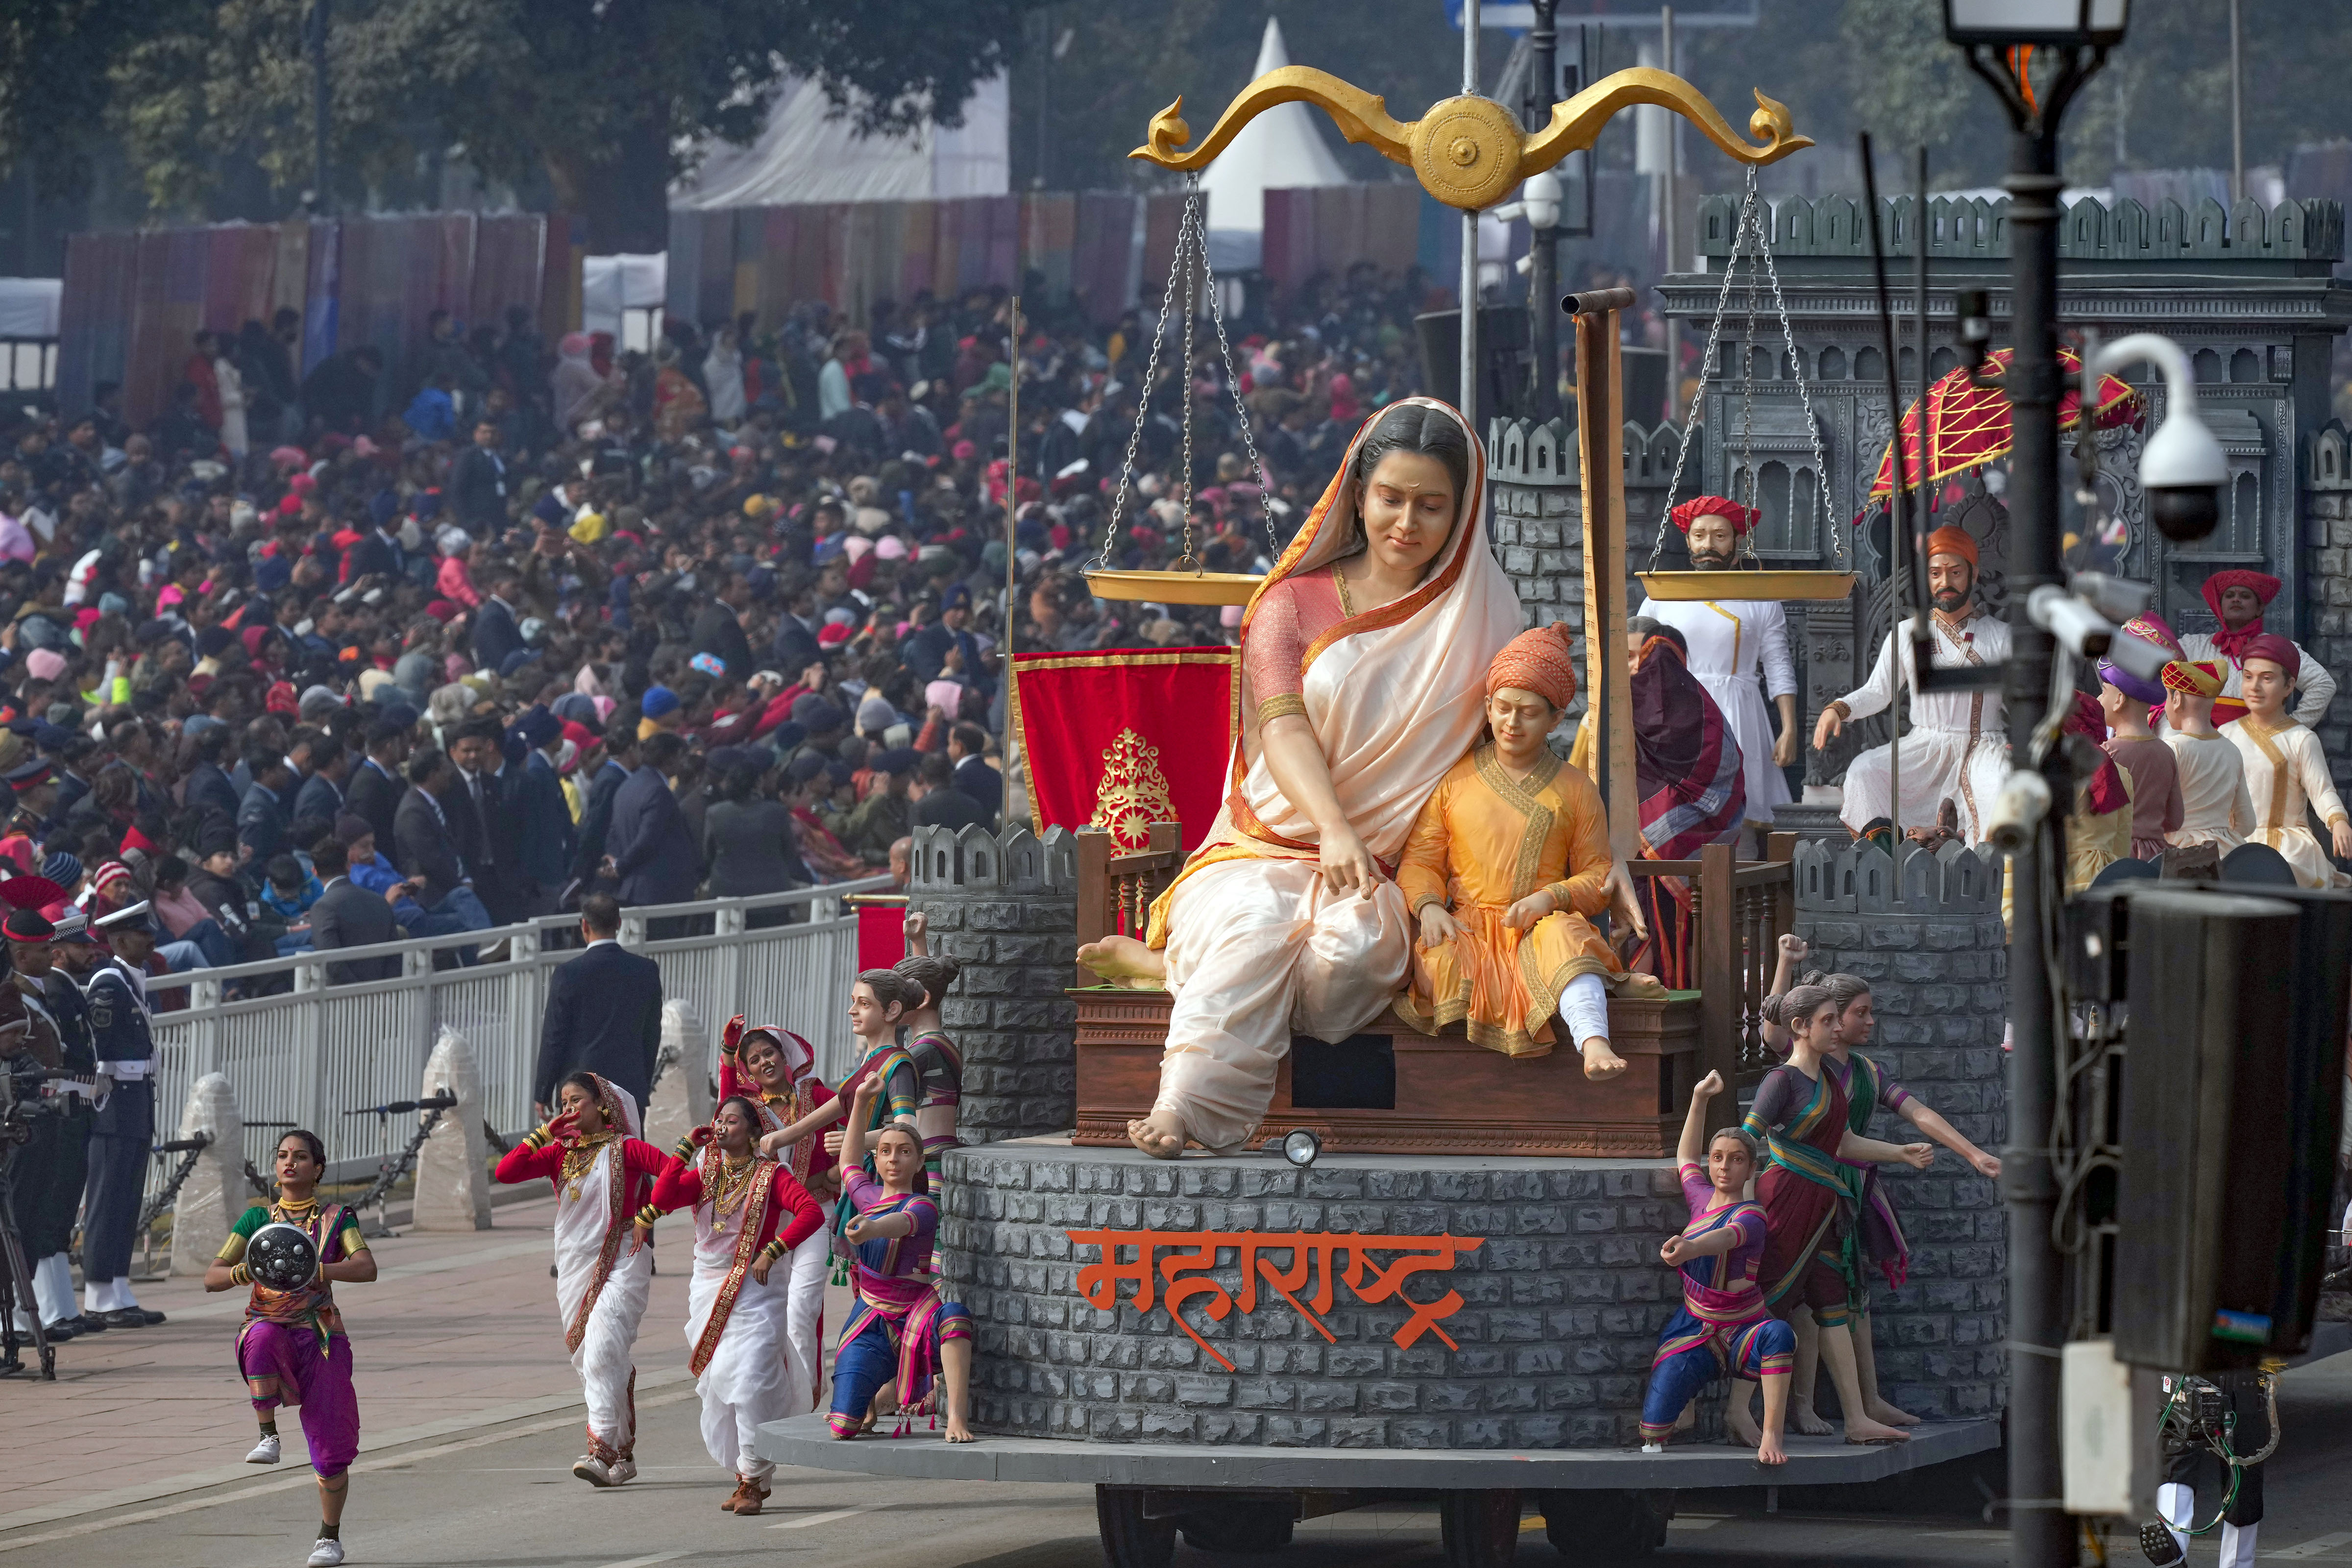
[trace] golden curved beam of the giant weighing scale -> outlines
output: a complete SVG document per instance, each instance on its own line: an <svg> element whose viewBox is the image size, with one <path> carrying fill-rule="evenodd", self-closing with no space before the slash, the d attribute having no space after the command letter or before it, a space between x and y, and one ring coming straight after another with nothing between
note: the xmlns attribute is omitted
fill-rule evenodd
<svg viewBox="0 0 2352 1568"><path fill-rule="evenodd" d="M1162 169L1188 174L1209 167L1232 136L1277 103L1312 103L1331 115L1338 134L1376 148L1390 162L1414 172L1421 188L1446 207L1477 212L1494 207L1510 188L1529 174L1543 174L1569 153L1590 148L1602 127L1618 110L1635 103L1668 108L1696 125L1708 141L1740 162L1766 165L1813 146L1811 136L1795 134L1788 106L1757 92L1757 110L1748 118L1748 134L1764 146L1740 141L1731 122L1724 120L1708 96L1679 75L1635 66L1592 82L1566 103L1552 103L1552 122L1529 136L1519 120L1496 103L1475 94L1463 94L1435 103L1428 115L1399 122L1388 113L1388 99L1338 80L1329 71L1312 66L1284 66L1268 71L1218 115L1216 127L1200 146L1192 127L1183 120L1183 99L1176 99L1152 115L1150 141L1129 153L1155 162Z"/></svg>

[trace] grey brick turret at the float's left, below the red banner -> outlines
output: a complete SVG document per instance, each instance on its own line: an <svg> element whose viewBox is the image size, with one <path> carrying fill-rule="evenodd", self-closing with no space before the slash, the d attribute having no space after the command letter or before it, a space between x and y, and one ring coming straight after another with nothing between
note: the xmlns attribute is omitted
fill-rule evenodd
<svg viewBox="0 0 2352 1568"><path fill-rule="evenodd" d="M1077 844L1009 827L915 830L908 907L931 922L931 950L962 964L941 1023L964 1053L964 1143L1077 1126Z"/></svg>

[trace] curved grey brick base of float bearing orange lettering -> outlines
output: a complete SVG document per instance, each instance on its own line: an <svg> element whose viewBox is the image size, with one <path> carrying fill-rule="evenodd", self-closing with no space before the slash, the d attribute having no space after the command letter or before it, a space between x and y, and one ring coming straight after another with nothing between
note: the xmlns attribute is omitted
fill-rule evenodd
<svg viewBox="0 0 2352 1568"><path fill-rule="evenodd" d="M1679 1293L1658 1246L1684 1225L1665 1161L1324 1157L1162 1164L1061 1140L948 1157L943 1274L978 1324L978 1425L1021 1436L1298 1448L1621 1448L1637 1441L1658 1328ZM1098 1248L1070 1229L1235 1229L1479 1237L1449 1274L1416 1274L1414 1300L1458 1291L1435 1335L1399 1349L1406 1312L1367 1307L1345 1284L1327 1342L1272 1291L1251 1314L1209 1321L1183 1305L1232 1371L1167 1307L1115 1312L1080 1295ZM1167 1253L1160 1253L1167 1258ZM1279 1262L1279 1260L1277 1260ZM1341 1269L1345 1274L1345 1269ZM1319 1274L1319 1269L1317 1269ZM1195 1279L1197 1274L1185 1274ZM1240 1291L1228 1248L1209 1272ZM1700 1406L1719 1432L1722 1392Z"/></svg>

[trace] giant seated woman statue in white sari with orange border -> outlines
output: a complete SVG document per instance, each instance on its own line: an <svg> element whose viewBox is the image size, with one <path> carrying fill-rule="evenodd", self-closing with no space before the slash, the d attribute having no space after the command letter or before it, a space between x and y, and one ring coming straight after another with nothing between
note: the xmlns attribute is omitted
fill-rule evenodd
<svg viewBox="0 0 2352 1568"><path fill-rule="evenodd" d="M1105 978L1174 994L1160 1098L1127 1126L1145 1154L1240 1145L1294 1032L1348 1039L1404 983L1414 924L1397 860L1479 738L1486 668L1519 630L1484 496L1461 414L1390 404L1242 616L1225 804L1145 940L1080 950Z"/></svg>

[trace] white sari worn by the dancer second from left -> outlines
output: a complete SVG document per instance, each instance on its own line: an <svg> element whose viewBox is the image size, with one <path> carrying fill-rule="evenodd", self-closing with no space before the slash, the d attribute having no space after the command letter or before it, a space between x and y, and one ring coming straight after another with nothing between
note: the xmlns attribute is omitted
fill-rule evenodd
<svg viewBox="0 0 2352 1568"><path fill-rule="evenodd" d="M555 1309L588 1394L590 1453L609 1465L635 1453L635 1345L654 1288L654 1253L630 1246L635 1206L621 1143L640 1135L637 1103L602 1077L597 1091L604 1119L621 1135L595 1152L576 1182L555 1182Z"/></svg>

